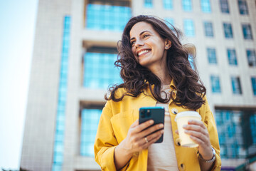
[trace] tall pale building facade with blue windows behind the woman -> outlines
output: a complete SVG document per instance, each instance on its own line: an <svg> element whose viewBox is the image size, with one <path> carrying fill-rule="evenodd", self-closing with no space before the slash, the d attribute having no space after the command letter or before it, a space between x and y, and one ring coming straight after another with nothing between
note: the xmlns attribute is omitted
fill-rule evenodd
<svg viewBox="0 0 256 171"><path fill-rule="evenodd" d="M256 168L256 1L39 0L23 169L100 170L93 144L104 95L122 83L117 41L139 14L165 19L196 46L223 170Z"/></svg>

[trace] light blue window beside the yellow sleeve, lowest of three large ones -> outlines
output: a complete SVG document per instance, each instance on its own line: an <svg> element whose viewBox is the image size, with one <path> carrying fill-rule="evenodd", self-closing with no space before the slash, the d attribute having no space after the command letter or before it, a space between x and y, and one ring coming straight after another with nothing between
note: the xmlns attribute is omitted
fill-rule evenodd
<svg viewBox="0 0 256 171"><path fill-rule="evenodd" d="M93 145L102 110L83 109L81 113L80 155L93 157Z"/></svg>

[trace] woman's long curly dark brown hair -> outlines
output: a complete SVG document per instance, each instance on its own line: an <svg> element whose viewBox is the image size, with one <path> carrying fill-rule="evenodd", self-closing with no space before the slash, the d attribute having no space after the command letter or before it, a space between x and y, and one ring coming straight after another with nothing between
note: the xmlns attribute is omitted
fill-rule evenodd
<svg viewBox="0 0 256 171"><path fill-rule="evenodd" d="M159 33L161 38L171 41L171 48L167 51L166 65L168 73L176 86L176 98L173 95L166 95L166 98L161 98L161 80L149 69L141 66L132 53L132 45L130 43L129 32L134 24L138 22L146 22L151 24L154 30ZM149 86L151 94L154 98L161 102L167 103L170 98L174 100L174 103L183 108L198 109L205 103L203 100L206 95L206 87L203 86L201 79L198 76L196 65L194 70L191 68L191 64L188 61L189 56L196 56L196 48L193 45L182 45L179 41L181 31L178 31L173 26L173 30L164 23L164 20L156 18L155 16L134 16L130 19L124 28L122 33L122 40L117 43L117 49L119 51L117 61L114 65L121 68L120 76L124 83L114 85L109 88L110 96L105 100L120 101L125 95L137 97L140 93L144 93L144 90ZM154 88L152 88L154 85ZM117 98L115 92L118 88L124 88L126 93ZM171 94L174 90L171 91Z"/></svg>

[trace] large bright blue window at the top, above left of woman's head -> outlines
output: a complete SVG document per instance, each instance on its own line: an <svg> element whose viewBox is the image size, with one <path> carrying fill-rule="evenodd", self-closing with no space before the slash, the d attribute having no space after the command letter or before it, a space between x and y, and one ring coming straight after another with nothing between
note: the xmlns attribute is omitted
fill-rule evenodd
<svg viewBox="0 0 256 171"><path fill-rule="evenodd" d="M122 31L131 16L129 6L87 4L86 28Z"/></svg>

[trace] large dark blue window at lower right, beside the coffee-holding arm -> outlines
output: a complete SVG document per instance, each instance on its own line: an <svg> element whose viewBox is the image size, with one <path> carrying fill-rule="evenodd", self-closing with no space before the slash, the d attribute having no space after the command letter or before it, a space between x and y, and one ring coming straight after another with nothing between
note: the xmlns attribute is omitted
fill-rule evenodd
<svg viewBox="0 0 256 171"><path fill-rule="evenodd" d="M247 158L255 155L256 111L240 108L238 110L215 110L220 157L228 159Z"/></svg>

